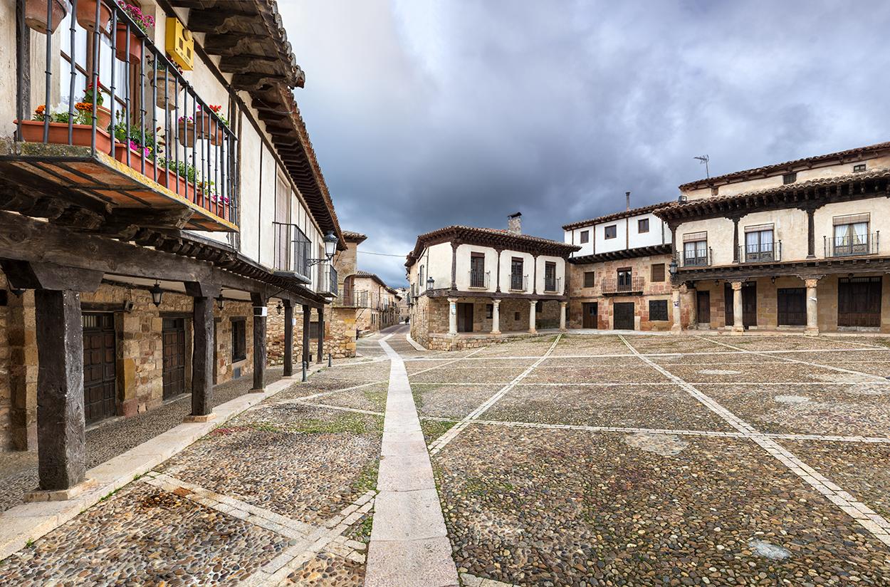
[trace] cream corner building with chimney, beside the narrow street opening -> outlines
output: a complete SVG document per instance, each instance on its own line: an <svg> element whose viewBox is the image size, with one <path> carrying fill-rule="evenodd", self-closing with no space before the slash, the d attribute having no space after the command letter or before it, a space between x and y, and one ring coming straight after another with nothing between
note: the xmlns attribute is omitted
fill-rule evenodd
<svg viewBox="0 0 890 587"><path fill-rule="evenodd" d="M417 237L405 266L412 300L411 336L453 350L509 333L564 329L566 265L577 245L508 230L446 226Z"/></svg>

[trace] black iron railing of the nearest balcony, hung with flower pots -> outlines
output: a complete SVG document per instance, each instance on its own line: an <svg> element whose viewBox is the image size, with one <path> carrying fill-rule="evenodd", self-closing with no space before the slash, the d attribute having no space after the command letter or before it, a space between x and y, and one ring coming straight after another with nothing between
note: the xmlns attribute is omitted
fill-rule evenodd
<svg viewBox="0 0 890 587"><path fill-rule="evenodd" d="M45 68L41 95L29 90L36 76L28 79L28 62L20 57L15 139L107 153L236 223L238 139L220 112L222 106L205 102L154 45L148 32L153 19L109 0L18 4L20 37L26 38L27 28L43 32L45 48L40 52L47 63L61 62L61 67ZM25 111L28 103L33 112Z"/></svg>

